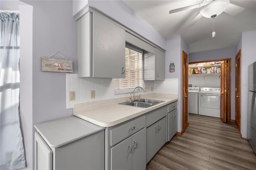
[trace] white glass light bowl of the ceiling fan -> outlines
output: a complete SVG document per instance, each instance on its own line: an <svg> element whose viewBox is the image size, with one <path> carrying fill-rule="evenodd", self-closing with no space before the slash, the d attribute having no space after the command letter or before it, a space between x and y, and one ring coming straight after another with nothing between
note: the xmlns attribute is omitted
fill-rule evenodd
<svg viewBox="0 0 256 170"><path fill-rule="evenodd" d="M206 18L211 18L212 15L220 15L229 5L229 0L215 0L204 6L200 10L200 14Z"/></svg>

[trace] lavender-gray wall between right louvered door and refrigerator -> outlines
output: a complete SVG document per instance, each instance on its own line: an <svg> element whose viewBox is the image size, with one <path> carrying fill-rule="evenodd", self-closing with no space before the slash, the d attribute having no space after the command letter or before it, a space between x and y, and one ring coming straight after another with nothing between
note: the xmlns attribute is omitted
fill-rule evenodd
<svg viewBox="0 0 256 170"><path fill-rule="evenodd" d="M256 61L256 30L242 33L241 49L241 134L247 137L248 65Z"/></svg>

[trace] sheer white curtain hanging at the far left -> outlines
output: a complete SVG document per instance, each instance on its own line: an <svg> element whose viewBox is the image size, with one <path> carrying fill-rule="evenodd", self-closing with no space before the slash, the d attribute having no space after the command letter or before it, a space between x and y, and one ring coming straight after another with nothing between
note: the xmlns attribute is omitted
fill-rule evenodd
<svg viewBox="0 0 256 170"><path fill-rule="evenodd" d="M19 115L19 14L1 12L0 29L0 169L15 170L26 168Z"/></svg>

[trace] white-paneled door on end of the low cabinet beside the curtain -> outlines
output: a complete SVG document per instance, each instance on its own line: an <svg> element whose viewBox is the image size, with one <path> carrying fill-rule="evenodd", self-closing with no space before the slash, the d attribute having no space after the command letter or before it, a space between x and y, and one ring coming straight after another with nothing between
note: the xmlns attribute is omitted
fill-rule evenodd
<svg viewBox="0 0 256 170"><path fill-rule="evenodd" d="M35 132L35 170L52 170L52 150Z"/></svg>

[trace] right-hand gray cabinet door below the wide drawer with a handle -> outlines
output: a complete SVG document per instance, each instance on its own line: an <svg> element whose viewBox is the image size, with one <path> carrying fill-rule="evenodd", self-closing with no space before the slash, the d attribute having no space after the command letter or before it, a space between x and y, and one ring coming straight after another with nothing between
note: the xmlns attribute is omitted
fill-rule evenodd
<svg viewBox="0 0 256 170"><path fill-rule="evenodd" d="M146 128L134 134L132 141L132 169L144 170L146 169Z"/></svg>

